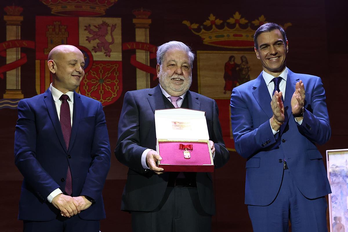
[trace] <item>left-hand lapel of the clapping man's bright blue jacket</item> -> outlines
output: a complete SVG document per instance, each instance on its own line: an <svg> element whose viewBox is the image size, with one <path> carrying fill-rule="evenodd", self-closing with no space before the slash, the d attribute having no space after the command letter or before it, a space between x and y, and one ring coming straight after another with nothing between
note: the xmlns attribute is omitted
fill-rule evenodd
<svg viewBox="0 0 348 232"><path fill-rule="evenodd" d="M272 98L269 95L269 91L262 77L262 72L255 79L255 84L253 85L253 95L256 101L259 103L263 112L267 115L268 118L271 118L273 115L272 109L270 107L270 103Z"/></svg>

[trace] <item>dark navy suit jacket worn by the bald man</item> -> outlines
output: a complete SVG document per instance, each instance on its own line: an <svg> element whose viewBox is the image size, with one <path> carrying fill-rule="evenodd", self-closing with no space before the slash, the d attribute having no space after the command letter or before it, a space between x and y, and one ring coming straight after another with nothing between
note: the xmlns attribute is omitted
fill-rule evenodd
<svg viewBox="0 0 348 232"><path fill-rule="evenodd" d="M24 176L18 219L50 221L60 213L47 197L57 188L64 192L68 165L72 196L87 195L96 201L79 216L88 220L105 218L102 189L110 168L110 144L102 104L74 92L71 137L66 150L49 89L19 101L15 164Z"/></svg>

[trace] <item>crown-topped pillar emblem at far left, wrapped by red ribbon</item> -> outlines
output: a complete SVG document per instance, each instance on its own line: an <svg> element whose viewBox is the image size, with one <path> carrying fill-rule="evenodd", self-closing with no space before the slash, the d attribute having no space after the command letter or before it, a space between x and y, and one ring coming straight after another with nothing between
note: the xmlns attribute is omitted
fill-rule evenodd
<svg viewBox="0 0 348 232"><path fill-rule="evenodd" d="M6 21L6 40L21 39L21 22L23 16L22 7L8 6L5 7L7 15L3 16ZM15 62L21 58L21 48L10 48L6 50L6 64ZM6 72L6 91L3 98L23 99L21 90L21 67Z"/></svg>

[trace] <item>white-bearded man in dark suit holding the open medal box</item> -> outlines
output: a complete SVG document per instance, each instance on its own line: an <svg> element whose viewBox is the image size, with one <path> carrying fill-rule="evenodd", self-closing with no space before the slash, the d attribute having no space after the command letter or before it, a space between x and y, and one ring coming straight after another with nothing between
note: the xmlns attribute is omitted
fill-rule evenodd
<svg viewBox="0 0 348 232"><path fill-rule="evenodd" d="M121 210L132 214L132 231L211 231L215 200L210 173L165 172L156 150L155 110L183 107L206 112L215 168L229 159L216 102L189 91L195 55L182 42L157 49L159 85L125 94L116 158L128 169Z"/></svg>

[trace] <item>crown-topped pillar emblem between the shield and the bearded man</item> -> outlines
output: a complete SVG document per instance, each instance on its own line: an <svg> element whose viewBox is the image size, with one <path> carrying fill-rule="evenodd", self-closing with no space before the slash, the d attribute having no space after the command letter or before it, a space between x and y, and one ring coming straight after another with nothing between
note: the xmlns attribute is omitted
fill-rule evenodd
<svg viewBox="0 0 348 232"><path fill-rule="evenodd" d="M151 24L150 10L145 10L143 8L133 10L135 15L133 23L135 25L135 41L149 43L149 27ZM150 56L148 51L136 49L136 60L150 65ZM144 72L140 69L136 69L136 89L150 88L150 73Z"/></svg>

